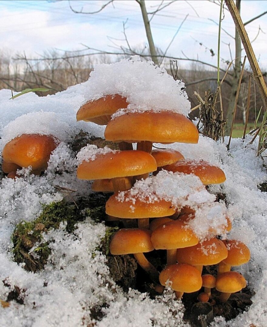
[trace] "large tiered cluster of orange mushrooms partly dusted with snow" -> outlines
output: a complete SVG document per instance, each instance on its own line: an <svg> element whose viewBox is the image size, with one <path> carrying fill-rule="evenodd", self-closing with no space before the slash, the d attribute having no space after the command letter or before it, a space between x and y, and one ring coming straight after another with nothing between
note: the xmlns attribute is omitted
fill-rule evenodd
<svg viewBox="0 0 267 327"><path fill-rule="evenodd" d="M122 221L124 228L114 234L110 252L133 254L159 292L169 285L180 299L184 292L203 288L199 301L209 301L211 289L216 287L221 294L218 299L227 301L231 293L246 286L243 276L230 268L247 262L249 250L238 241L221 240L231 230L231 220L226 210L218 220L215 207L224 205L206 195L206 185L225 181L224 172L210 163L186 159L177 150L152 150L153 143L198 143L198 130L181 113L168 109L131 111L130 105L122 94L107 94L88 101L77 112L77 120L107 125L105 139L119 143L117 151L87 146L78 154L78 178L95 180L94 191L114 193L106 203L106 214L108 220ZM133 143L137 143L136 150ZM196 184L186 185L185 176L192 175ZM164 179L169 177L184 179L179 196L179 192L169 197L157 193L160 183L164 188ZM190 193L190 187L195 194ZM211 212L210 223L200 234L193 226L199 225L205 206ZM134 228L128 225L129 219L135 221ZM167 255L161 271L144 255L151 251L157 255L157 250L166 250ZM240 258L232 259L238 257L232 252L239 252ZM202 275L203 266L211 265L218 265L216 276Z"/></svg>

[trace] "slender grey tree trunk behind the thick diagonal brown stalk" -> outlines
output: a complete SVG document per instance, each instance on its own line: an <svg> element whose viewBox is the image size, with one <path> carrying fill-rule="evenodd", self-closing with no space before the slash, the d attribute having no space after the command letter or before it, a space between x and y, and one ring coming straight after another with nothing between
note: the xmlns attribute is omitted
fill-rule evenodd
<svg viewBox="0 0 267 327"><path fill-rule="evenodd" d="M240 3L241 3L241 0L236 0L236 7L239 12L240 12ZM225 128L225 135L229 135L229 133L230 133L232 120L233 120L233 113L234 113L235 99L236 99L236 94L237 94L238 81L239 81L240 72L241 72L241 39L240 39L237 29L236 29L236 33L235 33L235 45L236 45L235 66L234 66L232 87L231 87L231 91L230 91L229 103L228 103L228 109L227 109L227 123L226 123L226 128Z"/></svg>

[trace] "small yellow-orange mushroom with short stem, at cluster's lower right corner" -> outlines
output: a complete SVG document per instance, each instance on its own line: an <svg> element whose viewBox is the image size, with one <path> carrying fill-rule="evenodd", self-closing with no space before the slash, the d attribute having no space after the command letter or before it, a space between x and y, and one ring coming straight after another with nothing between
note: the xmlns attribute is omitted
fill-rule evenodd
<svg viewBox="0 0 267 327"><path fill-rule="evenodd" d="M227 271L221 273L216 280L216 289L222 292L219 296L220 301L226 302L232 293L239 292L246 285L246 280L239 272Z"/></svg>

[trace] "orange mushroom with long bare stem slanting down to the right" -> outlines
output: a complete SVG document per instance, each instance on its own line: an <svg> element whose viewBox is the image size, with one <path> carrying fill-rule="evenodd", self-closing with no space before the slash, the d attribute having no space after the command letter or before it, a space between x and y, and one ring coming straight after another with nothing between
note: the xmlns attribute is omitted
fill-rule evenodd
<svg viewBox="0 0 267 327"><path fill-rule="evenodd" d="M159 272L144 256L144 252L154 250L151 232L139 228L123 228L117 231L110 242L110 253L114 255L133 254L138 264L158 283Z"/></svg>

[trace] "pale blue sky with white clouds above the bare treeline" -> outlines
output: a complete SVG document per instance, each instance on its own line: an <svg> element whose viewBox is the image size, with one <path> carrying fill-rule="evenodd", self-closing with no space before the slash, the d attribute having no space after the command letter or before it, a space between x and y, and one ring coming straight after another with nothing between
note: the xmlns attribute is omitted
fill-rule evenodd
<svg viewBox="0 0 267 327"><path fill-rule="evenodd" d="M102 0L0 0L0 51L15 57L26 53L38 58L44 51L84 50L87 47L108 52L121 52L126 46L125 33L133 49L143 49L147 44L139 4L135 0L114 0L95 14L74 13L97 11L108 1ZM171 1L164 0L164 4ZM208 0L178 0L158 12L151 19L154 43L167 55L191 58L217 66L218 22L220 7ZM161 4L159 0L146 0L148 12ZM267 0L242 0L243 22L267 10ZM187 16L188 15L188 16ZM222 28L234 36L232 17L224 8ZM151 18L151 15L149 15ZM180 29L179 29L180 27ZM260 28L260 29L259 29ZM176 37L174 38L177 30ZM260 66L267 68L267 14L246 25ZM222 30L221 53L223 60L234 59L234 39ZM172 39L174 40L172 41ZM211 56L209 49L215 53ZM81 53L85 53L81 51ZM244 52L242 53L244 54ZM179 61L184 65L184 61ZM187 64L188 61L187 61ZM226 65L226 64L224 64Z"/></svg>

